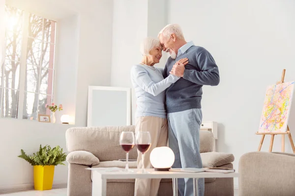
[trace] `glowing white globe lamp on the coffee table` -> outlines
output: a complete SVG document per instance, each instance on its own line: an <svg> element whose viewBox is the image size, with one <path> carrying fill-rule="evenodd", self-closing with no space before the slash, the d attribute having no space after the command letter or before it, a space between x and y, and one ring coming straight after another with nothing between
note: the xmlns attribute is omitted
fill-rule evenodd
<svg viewBox="0 0 295 196"><path fill-rule="evenodd" d="M156 147L151 151L149 160L155 171L169 171L175 155L170 147Z"/></svg>

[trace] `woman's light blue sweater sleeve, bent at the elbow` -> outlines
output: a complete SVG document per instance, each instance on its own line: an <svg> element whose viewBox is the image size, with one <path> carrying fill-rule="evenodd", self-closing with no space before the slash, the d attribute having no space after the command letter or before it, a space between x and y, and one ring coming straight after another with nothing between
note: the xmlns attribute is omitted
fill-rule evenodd
<svg viewBox="0 0 295 196"><path fill-rule="evenodd" d="M140 69L138 67L132 68L131 77L138 86L153 96L159 95L180 78L170 74L162 81L155 83L150 79L148 72L145 69Z"/></svg>

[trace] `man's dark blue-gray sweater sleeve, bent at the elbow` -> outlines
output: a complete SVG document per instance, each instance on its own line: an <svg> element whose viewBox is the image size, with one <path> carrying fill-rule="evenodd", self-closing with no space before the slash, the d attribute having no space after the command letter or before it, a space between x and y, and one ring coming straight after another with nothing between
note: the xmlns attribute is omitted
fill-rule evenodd
<svg viewBox="0 0 295 196"><path fill-rule="evenodd" d="M197 54L197 63L201 71L184 70L183 78L200 85L216 86L219 84L218 67L211 54L204 49Z"/></svg>

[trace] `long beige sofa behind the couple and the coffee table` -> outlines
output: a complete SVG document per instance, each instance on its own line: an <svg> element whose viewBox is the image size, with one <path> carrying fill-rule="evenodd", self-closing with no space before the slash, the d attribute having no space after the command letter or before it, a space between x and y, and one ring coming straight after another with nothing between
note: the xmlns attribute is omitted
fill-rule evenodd
<svg viewBox="0 0 295 196"><path fill-rule="evenodd" d="M125 167L125 152L119 145L121 131L134 131L134 126L74 127L66 131L68 196L91 196L91 172L86 168ZM204 167L233 168L234 156L228 153L212 152L213 134L200 131L200 151ZM136 159L137 151L132 149L129 159ZM136 161L129 162L136 168ZM108 180L108 196L133 196L135 180ZM158 196L172 196L172 179L162 179ZM232 178L205 179L206 196L234 196Z"/></svg>

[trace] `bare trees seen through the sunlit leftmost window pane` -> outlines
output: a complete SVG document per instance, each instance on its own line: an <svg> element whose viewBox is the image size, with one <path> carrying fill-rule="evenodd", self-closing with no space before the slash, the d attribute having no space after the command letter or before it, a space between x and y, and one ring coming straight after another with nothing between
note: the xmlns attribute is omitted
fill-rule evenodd
<svg viewBox="0 0 295 196"><path fill-rule="evenodd" d="M0 116L17 118L24 12L7 6L5 9L8 25L5 32L5 59L0 73Z"/></svg>

